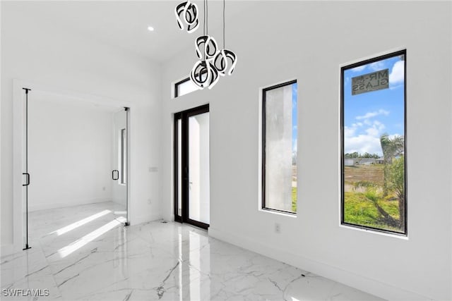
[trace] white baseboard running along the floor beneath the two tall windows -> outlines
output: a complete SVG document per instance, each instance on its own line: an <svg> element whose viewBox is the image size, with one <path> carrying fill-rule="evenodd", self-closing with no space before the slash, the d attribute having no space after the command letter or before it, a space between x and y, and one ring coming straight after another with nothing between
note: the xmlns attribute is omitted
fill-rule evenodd
<svg viewBox="0 0 452 301"><path fill-rule="evenodd" d="M304 271L323 276L333 281L349 285L352 288L357 288L371 295L382 297L386 300L429 300L432 298L419 295L417 293L405 290L403 288L397 288L388 283L382 283L366 276L354 274L350 271L339 269L338 267L324 264L323 262L317 262L306 257L302 257L299 254L293 254L287 252L287 250L281 250L275 246L264 245L262 242L252 240L250 238L244 238L242 236L225 233L218 229L210 227L208 233L211 237L230 242L233 245L243 247L246 250L251 250L258 254L285 262L292 266L296 266Z"/></svg>

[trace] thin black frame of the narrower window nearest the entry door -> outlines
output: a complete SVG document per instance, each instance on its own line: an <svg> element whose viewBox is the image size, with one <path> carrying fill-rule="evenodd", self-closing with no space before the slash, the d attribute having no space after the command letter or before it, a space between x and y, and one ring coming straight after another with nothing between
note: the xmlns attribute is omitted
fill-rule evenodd
<svg viewBox="0 0 452 301"><path fill-rule="evenodd" d="M275 90L280 87L285 87L288 85L296 84L297 80L290 80L287 82L282 82L278 85L273 85L262 89L262 145L261 145L261 209L265 211L273 211L282 214L290 214L291 216L297 216L297 212L285 211L280 209L273 209L266 207L266 92L270 90ZM297 96L297 106L298 106L298 96ZM298 202L298 199L297 199ZM298 207L297 207L298 211Z"/></svg>

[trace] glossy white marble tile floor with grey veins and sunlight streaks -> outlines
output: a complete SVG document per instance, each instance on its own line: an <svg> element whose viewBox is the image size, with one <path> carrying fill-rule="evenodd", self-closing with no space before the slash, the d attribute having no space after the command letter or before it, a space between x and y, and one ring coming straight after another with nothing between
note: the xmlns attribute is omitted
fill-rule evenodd
<svg viewBox="0 0 452 301"><path fill-rule="evenodd" d="M105 202L32 212L32 248L1 257L1 300L381 300L186 224L124 227L121 211Z"/></svg>

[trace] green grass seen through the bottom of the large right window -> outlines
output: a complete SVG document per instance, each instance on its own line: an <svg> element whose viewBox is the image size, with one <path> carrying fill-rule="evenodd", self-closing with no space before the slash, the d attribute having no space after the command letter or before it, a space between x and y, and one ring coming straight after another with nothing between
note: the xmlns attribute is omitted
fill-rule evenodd
<svg viewBox="0 0 452 301"><path fill-rule="evenodd" d="M379 205L394 219L398 219L398 202L388 199L379 200ZM381 216L375 205L369 201L361 192L345 192L344 221L360 226L381 228L391 231L400 231L382 223Z"/></svg>

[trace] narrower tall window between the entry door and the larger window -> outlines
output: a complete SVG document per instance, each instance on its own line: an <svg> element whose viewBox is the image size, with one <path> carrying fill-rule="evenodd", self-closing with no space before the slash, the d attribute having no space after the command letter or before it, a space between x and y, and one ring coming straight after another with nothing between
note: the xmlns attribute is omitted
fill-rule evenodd
<svg viewBox="0 0 452 301"><path fill-rule="evenodd" d="M297 212L297 81L263 90L262 207Z"/></svg>

